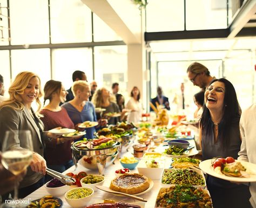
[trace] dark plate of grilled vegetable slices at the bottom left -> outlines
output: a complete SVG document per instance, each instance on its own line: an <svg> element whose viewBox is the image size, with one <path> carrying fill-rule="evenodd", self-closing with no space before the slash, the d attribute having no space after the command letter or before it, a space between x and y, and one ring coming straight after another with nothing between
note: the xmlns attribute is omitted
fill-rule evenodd
<svg viewBox="0 0 256 208"><path fill-rule="evenodd" d="M26 207L62 207L63 202L62 199L58 197L52 197L51 195L44 196L42 198L32 200L30 204Z"/></svg>

